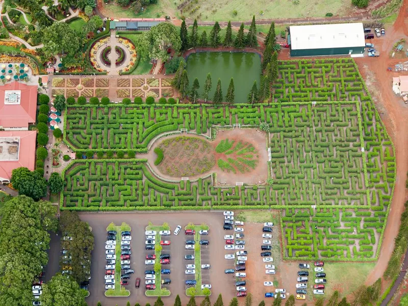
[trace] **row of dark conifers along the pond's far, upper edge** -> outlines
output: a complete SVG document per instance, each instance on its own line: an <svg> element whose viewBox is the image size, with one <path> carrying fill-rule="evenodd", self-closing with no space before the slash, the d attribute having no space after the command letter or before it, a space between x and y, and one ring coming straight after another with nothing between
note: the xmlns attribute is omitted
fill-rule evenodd
<svg viewBox="0 0 408 306"><path fill-rule="evenodd" d="M183 20L181 29L180 29L180 39L182 42L181 50L186 50L189 47L204 47L204 46L212 46L214 48L219 46L224 47L231 47L234 46L236 48L243 48L243 47L256 47L258 45L257 41L257 27L255 23L255 16L252 17L252 22L249 28L248 33L244 34L244 23L241 23L241 27L236 35L235 39L233 37L232 32L232 25L231 21L228 21L228 25L226 27L225 37L221 41L220 37L221 28L216 21L211 29L209 37L207 37L207 32L203 31L198 37L198 24L197 19L194 19L193 28L191 30L190 35L188 34L186 21Z"/></svg>

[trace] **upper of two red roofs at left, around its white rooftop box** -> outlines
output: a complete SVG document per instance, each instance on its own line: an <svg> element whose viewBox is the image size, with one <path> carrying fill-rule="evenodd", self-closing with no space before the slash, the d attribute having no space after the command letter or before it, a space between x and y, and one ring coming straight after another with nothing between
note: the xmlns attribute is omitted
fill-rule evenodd
<svg viewBox="0 0 408 306"><path fill-rule="evenodd" d="M20 90L19 105L5 105L6 90ZM0 86L0 126L28 127L35 122L37 109L37 86L28 86L19 82L12 82Z"/></svg>

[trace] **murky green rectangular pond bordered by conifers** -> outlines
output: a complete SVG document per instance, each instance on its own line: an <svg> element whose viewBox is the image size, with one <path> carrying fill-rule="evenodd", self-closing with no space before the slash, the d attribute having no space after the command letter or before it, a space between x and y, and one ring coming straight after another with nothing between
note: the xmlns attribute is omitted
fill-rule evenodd
<svg viewBox="0 0 408 306"><path fill-rule="evenodd" d="M187 57L187 72L190 87L195 78L200 83L200 94L207 78L211 73L212 88L210 99L214 96L218 79L221 79L222 94L225 97L231 78L234 78L235 103L246 103L246 98L252 88L253 81L257 81L259 88L261 77L261 57L249 52L201 52Z"/></svg>

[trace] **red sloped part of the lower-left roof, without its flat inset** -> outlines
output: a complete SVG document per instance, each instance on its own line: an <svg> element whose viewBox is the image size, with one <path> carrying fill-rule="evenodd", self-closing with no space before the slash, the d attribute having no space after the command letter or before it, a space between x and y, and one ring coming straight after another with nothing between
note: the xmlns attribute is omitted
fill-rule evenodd
<svg viewBox="0 0 408 306"><path fill-rule="evenodd" d="M18 160L0 160L0 180L10 180L11 171L18 167L34 170L36 131L0 131L0 137L20 137Z"/></svg>

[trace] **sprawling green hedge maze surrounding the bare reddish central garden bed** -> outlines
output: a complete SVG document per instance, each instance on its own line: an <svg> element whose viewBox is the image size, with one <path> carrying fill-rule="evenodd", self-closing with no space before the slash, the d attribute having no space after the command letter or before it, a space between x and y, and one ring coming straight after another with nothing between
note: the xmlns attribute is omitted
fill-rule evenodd
<svg viewBox="0 0 408 306"><path fill-rule="evenodd" d="M132 149L137 158L166 132L185 128L212 137L215 125L258 127L265 121L271 150L265 166L273 184L215 187L214 175L167 182L146 160L80 160L64 170L62 209L276 208L282 210L285 258L376 260L396 163L393 144L354 61L281 62L273 97L269 105L223 108L70 106L64 129L70 147Z"/></svg>

